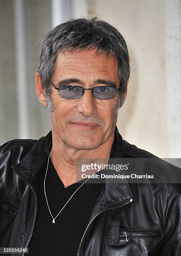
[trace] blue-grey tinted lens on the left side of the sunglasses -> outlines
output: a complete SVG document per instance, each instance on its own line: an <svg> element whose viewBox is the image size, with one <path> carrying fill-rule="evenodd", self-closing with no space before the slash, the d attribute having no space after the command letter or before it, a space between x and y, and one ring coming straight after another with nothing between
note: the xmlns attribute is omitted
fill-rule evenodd
<svg viewBox="0 0 181 256"><path fill-rule="evenodd" d="M82 87L79 86L65 85L59 87L60 97L65 99L79 99L82 97L83 93L84 91L82 90Z"/></svg>

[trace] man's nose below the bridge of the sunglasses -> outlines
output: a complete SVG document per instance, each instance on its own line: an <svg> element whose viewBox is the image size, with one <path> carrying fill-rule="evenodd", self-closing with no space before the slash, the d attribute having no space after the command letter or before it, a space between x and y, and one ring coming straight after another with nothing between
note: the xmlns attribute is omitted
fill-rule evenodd
<svg viewBox="0 0 181 256"><path fill-rule="evenodd" d="M84 95L77 102L77 111L84 116L91 116L96 112L96 102L91 90L84 90Z"/></svg>

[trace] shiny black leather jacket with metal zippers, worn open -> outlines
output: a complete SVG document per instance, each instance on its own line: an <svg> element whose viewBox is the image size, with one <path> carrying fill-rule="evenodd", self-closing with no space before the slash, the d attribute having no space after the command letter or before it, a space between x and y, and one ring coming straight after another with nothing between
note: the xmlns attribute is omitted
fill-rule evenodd
<svg viewBox="0 0 181 256"><path fill-rule="evenodd" d="M0 247L28 247L39 171L51 147L51 132L38 141L17 139L0 147ZM114 158L153 156L122 140L117 128L112 153ZM181 185L105 184L77 255L181 255Z"/></svg>

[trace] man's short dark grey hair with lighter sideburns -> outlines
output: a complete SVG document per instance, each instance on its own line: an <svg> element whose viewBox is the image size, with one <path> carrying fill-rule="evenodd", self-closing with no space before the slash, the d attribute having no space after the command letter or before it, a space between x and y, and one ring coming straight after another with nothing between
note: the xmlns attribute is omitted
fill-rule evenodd
<svg viewBox="0 0 181 256"><path fill-rule="evenodd" d="M47 98L48 109L53 111L50 80L55 69L57 56L60 52L77 49L97 49L97 54L105 53L107 56L116 57L121 89L120 99L116 107L116 111L118 111L130 74L129 53L121 33L109 23L96 17L68 20L45 35L37 72L40 75Z"/></svg>

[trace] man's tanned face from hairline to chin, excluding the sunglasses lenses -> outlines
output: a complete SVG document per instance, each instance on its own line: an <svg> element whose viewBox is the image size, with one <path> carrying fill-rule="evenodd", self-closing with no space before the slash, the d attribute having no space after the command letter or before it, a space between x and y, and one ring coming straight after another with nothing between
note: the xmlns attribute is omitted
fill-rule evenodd
<svg viewBox="0 0 181 256"><path fill-rule="evenodd" d="M64 80L76 79L77 82L66 85L93 88L106 86L100 82L104 80L115 83L119 88L117 60L105 54L95 56L95 53L96 50L60 53L52 76L53 84L59 87ZM91 90L84 90L80 99L69 100L60 97L52 86L51 97L54 109L51 113L52 132L67 146L90 150L114 137L119 92L113 99L99 100L93 97Z"/></svg>

